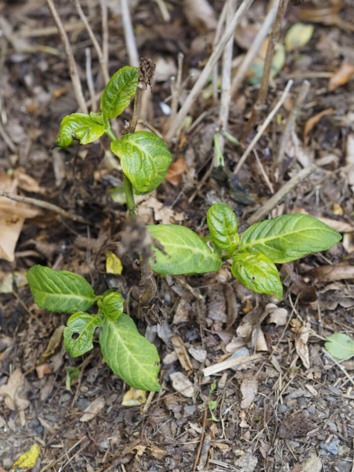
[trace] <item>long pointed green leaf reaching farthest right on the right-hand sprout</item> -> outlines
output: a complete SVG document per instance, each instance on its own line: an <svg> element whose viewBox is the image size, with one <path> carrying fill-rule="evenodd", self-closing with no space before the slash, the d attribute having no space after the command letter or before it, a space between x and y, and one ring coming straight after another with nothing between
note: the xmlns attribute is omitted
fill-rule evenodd
<svg viewBox="0 0 354 472"><path fill-rule="evenodd" d="M250 226L239 251L265 254L272 262L289 262L331 248L340 234L313 216L294 213Z"/></svg>

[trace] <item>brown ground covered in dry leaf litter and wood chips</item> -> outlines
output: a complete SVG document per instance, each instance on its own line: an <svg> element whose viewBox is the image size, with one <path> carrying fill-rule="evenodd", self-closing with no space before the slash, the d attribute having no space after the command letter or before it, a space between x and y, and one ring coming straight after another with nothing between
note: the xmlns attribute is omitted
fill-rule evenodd
<svg viewBox="0 0 354 472"><path fill-rule="evenodd" d="M128 64L128 56L117 10L119 2L107 3L112 7L112 74ZM234 58L245 53L255 30L263 23L266 3L255 1L246 15L236 36ZM98 2L82 4L99 37ZM158 64L154 94L142 117L165 135L168 116L163 114L160 103L171 94L170 77L176 74L177 55L184 54L183 79L202 69L212 50L215 19L223 2L210 2L214 12L210 18L204 14L204 23L209 18L207 25L195 20L188 2L165 2L171 15L169 21L164 21L158 2L132 4L136 4L132 18L139 54ZM113 203L109 196L108 190L119 185L121 173L110 165L108 139L84 147L75 143L60 152L50 152L60 120L74 112L77 104L56 30L41 30L53 25L46 4L40 0L0 3L0 185L9 190L15 182L13 191L17 184L20 194L53 202L93 223L84 225L44 210L29 214L28 207L23 210L26 219L15 259L1 261L2 281L10 283L10 289L9 285L2 286L0 306L0 385L9 386L8 395L0 403L0 465L5 470L10 470L19 454L36 442L40 445L40 457L33 469L36 471L188 472L194 469L201 441L196 470L352 470L354 363L347 360L339 368L322 347L325 336L345 332L352 337L354 331L354 178L348 167L354 162L354 80L348 77L343 85L328 91L333 72L343 63L354 64L354 16L350 0L328 2L324 13L320 7L322 3L315 1L300 7L291 5L284 21L282 38L299 18L311 19L306 8L315 8L320 20L313 23L309 43L287 53L280 75L271 83L267 106L262 109L259 123L278 101L288 79L294 78L281 114L255 148L269 182L254 155L240 171L237 185L231 184L231 192L229 185L210 177L218 107L212 101L211 85L207 85L206 93L200 94L190 110L191 122L205 112L199 124L183 131L170 144L174 161L182 158L185 168L181 166L177 172L176 182L169 179L145 196L140 214L147 223L182 222L203 235L207 230L207 208L215 201L224 201L245 228L248 217L272 193L314 162L316 171L286 195L272 216L301 210L329 218L331 225L345 234L343 243L326 253L284 264L284 298L279 303L234 281L227 263L217 274L194 276L187 281L183 277L159 278L158 295L166 301L166 322L162 327L149 327L147 335L154 339L162 360L163 389L150 395L142 406L124 407L121 403L128 388L102 363L98 342L90 353L78 359L71 359L60 343L54 353L38 363L49 338L57 327L65 325L67 315L38 309L23 273L39 263L74 271L87 278L95 290L104 290L108 276L97 270L104 272L105 250L100 250L120 239L127 214L125 206ZM70 42L85 88L84 48L91 46L90 39L78 23L71 2L60 2L58 10L63 23L69 25ZM92 57L95 88L99 91L104 84L93 50ZM275 161L279 139L306 78L310 90L287 145L279 177ZM192 86L191 80L185 83L182 102ZM246 82L232 100L229 132L235 137L242 136L257 90L257 85ZM85 96L88 98L88 94ZM323 110L329 111L313 126L308 125L304 147L305 123ZM123 119L130 120L129 111ZM117 130L123 124L117 120ZM233 170L242 152L226 146L228 170ZM19 213L19 208L13 212ZM21 219L13 216L9 220L8 215L6 218L7 225L0 228L2 244L16 240L19 231L16 233L15 226ZM144 332L145 323L136 318L140 273L133 256L127 255L123 260L123 277L113 278L112 283L125 293L134 286L130 314ZM334 275L328 274L328 265L333 266L332 272L335 269ZM13 293L9 274L16 275ZM270 306L270 302L276 302L277 307ZM234 370L203 375L205 367L227 359L242 344L248 346L244 355L258 356ZM44 367L38 368L38 364ZM68 366L76 366L81 372L72 392L65 389ZM183 373L191 382L191 396L173 388L169 376L174 372ZM13 383L9 383L9 378ZM208 419L211 414L207 410L213 379L217 386L210 399L216 401L213 413L217 421ZM83 410L92 403L91 417L83 416Z"/></svg>

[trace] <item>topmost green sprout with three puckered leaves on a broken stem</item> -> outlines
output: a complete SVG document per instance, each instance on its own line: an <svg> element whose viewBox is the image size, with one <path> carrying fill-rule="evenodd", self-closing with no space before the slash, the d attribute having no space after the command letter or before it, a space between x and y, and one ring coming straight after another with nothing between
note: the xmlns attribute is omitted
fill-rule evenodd
<svg viewBox="0 0 354 472"><path fill-rule="evenodd" d="M120 115L136 94L140 70L137 67L123 67L107 83L102 96L100 109L89 114L72 113L63 118L60 124L56 146L68 146L73 139L81 144L96 141L105 133L112 140L111 150L120 158L124 179L127 205L135 211L134 194L144 194L155 190L164 180L172 162L170 151L161 138L148 131L127 133L116 139L111 119ZM137 117L136 117L137 118ZM132 187L133 186L133 187Z"/></svg>

